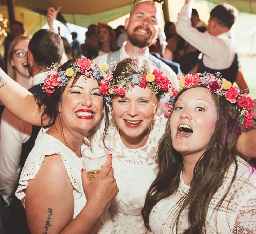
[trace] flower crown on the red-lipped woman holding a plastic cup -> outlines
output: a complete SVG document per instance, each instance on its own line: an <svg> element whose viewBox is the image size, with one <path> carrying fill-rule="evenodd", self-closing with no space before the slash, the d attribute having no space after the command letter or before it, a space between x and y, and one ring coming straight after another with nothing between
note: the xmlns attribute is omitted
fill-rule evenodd
<svg viewBox="0 0 256 234"><path fill-rule="evenodd" d="M42 85L44 92L51 96L54 90L60 86L66 86L70 78L75 73L80 73L86 78L91 78L99 80L106 77L109 72L109 66L103 63L102 68L98 68L94 63L87 58L78 59L70 68L66 71L57 71L58 66L53 65L52 69L47 72L47 76Z"/></svg>

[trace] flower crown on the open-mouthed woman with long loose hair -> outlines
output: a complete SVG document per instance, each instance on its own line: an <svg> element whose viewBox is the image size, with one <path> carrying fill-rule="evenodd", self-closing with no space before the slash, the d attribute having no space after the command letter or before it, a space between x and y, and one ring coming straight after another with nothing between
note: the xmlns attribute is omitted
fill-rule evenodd
<svg viewBox="0 0 256 234"><path fill-rule="evenodd" d="M239 124L244 124L248 128L252 123L252 107L254 103L250 97L240 94L240 90L236 86L232 86L230 81L222 78L218 72L216 76L209 73L196 73L195 75L178 75L180 88L177 90L173 88L169 93L169 101L164 103L168 112L164 113L166 118L169 117L173 110L174 99L183 88L190 88L192 86L206 86L209 91L214 92L220 96L225 96L226 100L236 105L236 109L240 114Z"/></svg>

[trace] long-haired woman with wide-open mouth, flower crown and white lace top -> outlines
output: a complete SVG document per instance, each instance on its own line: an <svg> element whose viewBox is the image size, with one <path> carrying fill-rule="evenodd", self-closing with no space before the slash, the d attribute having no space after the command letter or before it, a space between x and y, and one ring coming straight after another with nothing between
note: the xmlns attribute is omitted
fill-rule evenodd
<svg viewBox="0 0 256 234"><path fill-rule="evenodd" d="M142 210L146 227L155 234L255 233L256 172L235 148L241 125L251 123L251 98L218 75L180 76L179 84Z"/></svg>

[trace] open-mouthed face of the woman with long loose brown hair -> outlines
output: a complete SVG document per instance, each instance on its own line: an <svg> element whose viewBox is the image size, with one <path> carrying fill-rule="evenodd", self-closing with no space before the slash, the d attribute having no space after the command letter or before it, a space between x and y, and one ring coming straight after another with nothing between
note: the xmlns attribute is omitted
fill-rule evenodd
<svg viewBox="0 0 256 234"><path fill-rule="evenodd" d="M173 148L185 155L201 156L215 129L217 111L208 89L197 87L184 91L170 117Z"/></svg>

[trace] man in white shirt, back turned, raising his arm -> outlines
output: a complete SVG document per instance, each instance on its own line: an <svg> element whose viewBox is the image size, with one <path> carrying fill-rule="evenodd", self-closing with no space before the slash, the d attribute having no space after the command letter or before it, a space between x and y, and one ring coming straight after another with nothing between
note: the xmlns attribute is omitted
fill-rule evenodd
<svg viewBox="0 0 256 234"><path fill-rule="evenodd" d="M237 75L239 63L230 29L237 16L237 10L229 4L221 4L212 9L207 33L201 33L191 25L191 11L194 0L185 0L176 25L177 33L192 46L201 51L197 72L220 72L231 81L236 81L240 89L248 88L243 76ZM195 69L196 72L196 69Z"/></svg>

